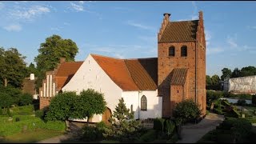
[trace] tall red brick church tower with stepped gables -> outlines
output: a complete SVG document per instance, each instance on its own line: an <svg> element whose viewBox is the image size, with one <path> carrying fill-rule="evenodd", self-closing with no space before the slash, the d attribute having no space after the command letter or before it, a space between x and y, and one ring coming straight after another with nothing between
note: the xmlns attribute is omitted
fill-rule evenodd
<svg viewBox="0 0 256 144"><path fill-rule="evenodd" d="M162 117L170 118L177 102L192 98L206 114L206 40L202 11L198 20L170 21L163 14L158 32L158 96Z"/></svg>

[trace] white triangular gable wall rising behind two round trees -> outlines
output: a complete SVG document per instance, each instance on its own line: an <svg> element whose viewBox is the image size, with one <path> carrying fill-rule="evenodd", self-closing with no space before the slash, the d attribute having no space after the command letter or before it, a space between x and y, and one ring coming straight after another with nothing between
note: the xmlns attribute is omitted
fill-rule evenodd
<svg viewBox="0 0 256 144"><path fill-rule="evenodd" d="M91 55L86 58L73 78L70 79L70 82L62 88L62 91L76 91L79 94L82 90L88 88L98 90L98 92L104 94L106 106L113 113L115 106L118 105L118 99L122 96L122 89L110 79ZM101 120L101 115L93 118L93 122Z"/></svg>

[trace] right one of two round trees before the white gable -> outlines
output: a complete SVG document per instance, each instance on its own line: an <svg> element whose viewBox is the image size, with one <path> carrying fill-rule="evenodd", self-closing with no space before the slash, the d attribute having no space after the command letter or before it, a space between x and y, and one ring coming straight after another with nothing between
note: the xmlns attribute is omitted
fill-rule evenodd
<svg viewBox="0 0 256 144"><path fill-rule="evenodd" d="M94 114L103 114L106 110L104 95L98 91L82 90L74 108L74 118L87 118L87 122Z"/></svg>

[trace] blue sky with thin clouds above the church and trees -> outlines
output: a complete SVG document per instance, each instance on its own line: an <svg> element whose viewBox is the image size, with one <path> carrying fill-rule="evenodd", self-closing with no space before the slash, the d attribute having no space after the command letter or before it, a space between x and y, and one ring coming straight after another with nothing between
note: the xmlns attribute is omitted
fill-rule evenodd
<svg viewBox="0 0 256 144"><path fill-rule="evenodd" d="M206 74L256 66L256 2L0 2L0 46L15 47L34 63L40 43L58 34L77 43L77 61L88 54L157 57L164 13L170 21L198 19L203 11Z"/></svg>

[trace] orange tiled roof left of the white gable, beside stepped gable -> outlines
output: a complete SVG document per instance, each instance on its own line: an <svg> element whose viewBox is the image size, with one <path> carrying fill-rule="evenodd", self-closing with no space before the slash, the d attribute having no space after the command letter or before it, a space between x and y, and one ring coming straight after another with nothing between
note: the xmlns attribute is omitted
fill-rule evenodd
<svg viewBox="0 0 256 144"><path fill-rule="evenodd" d="M62 62L60 64L55 75L55 82L59 90L70 81L81 65L82 62Z"/></svg>

